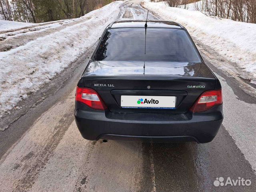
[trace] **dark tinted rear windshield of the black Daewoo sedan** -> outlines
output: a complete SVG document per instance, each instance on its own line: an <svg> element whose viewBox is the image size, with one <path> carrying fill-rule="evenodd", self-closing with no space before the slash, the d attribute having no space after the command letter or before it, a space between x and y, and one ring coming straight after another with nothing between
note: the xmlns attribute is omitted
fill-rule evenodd
<svg viewBox="0 0 256 192"><path fill-rule="evenodd" d="M166 28L107 30L94 60L200 62L188 34Z"/></svg>

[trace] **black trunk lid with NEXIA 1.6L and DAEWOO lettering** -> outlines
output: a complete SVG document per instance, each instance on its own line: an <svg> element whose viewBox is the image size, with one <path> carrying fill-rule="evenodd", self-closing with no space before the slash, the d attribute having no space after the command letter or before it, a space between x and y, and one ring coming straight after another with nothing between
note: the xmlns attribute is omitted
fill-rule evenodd
<svg viewBox="0 0 256 192"><path fill-rule="evenodd" d="M201 62L94 61L83 83L96 90L112 112L184 113L203 92L215 88L216 78ZM121 96L175 97L175 107L124 108Z"/></svg>

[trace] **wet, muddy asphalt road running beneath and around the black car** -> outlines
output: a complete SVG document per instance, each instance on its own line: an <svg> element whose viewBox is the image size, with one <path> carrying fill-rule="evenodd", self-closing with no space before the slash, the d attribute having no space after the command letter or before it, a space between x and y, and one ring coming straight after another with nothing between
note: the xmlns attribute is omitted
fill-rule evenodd
<svg viewBox="0 0 256 192"><path fill-rule="evenodd" d="M122 19L145 16L138 0L126 2L119 14ZM149 19L161 18L150 13ZM220 70L223 58L194 41L223 87L225 120L212 142L84 140L74 122L74 92L92 47L25 101L24 108L30 106L26 112L0 131L0 191L256 191L256 98L246 91L255 86ZM215 187L219 177L250 179L252 184Z"/></svg>

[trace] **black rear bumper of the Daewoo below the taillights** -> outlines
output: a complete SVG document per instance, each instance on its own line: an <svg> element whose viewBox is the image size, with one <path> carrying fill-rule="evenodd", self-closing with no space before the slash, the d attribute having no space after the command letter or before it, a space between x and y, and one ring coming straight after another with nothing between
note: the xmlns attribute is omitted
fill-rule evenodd
<svg viewBox="0 0 256 192"><path fill-rule="evenodd" d="M74 114L87 140L206 143L214 139L223 120L222 105L194 114L136 114L93 110L76 102Z"/></svg>

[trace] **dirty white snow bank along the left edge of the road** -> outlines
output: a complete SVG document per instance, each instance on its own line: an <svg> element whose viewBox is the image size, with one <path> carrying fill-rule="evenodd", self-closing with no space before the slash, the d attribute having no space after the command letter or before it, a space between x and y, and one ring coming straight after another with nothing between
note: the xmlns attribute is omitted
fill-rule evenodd
<svg viewBox="0 0 256 192"><path fill-rule="evenodd" d="M117 19L121 4L113 2L69 20L74 24L62 30L0 52L0 117L95 44L106 26Z"/></svg>

